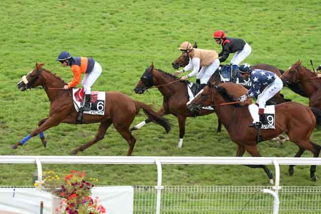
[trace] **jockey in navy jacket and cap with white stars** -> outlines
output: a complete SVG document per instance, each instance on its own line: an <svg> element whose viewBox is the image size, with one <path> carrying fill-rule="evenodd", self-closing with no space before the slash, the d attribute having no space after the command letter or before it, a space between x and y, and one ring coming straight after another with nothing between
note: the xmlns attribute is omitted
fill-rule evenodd
<svg viewBox="0 0 321 214"><path fill-rule="evenodd" d="M249 127L259 127L261 126L261 122L264 120L264 109L265 103L271 97L273 97L276 93L278 93L282 87L283 83L281 79L275 74L270 71L260 70L260 69L253 69L249 64L242 64L239 67L239 71L242 76L246 78L250 78L252 82L251 88L241 97L238 98L241 102L245 102L245 100L249 97L254 97L258 95L256 100L256 105L259 107L257 108L250 108L249 111L253 118L253 123L248 125ZM261 86L266 86L265 89L260 93ZM259 117L258 117L259 116Z"/></svg>

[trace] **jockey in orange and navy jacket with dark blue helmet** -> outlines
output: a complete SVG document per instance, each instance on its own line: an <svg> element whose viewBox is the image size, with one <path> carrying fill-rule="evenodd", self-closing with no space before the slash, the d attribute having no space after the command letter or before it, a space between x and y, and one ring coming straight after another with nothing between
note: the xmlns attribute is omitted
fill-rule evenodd
<svg viewBox="0 0 321 214"><path fill-rule="evenodd" d="M102 68L100 64L90 57L72 57L67 51L62 51L59 54L57 61L59 61L64 67L69 65L74 73L73 80L68 83L68 85L64 86L65 90L71 87L76 87L80 83L81 73L84 74L81 81L81 86L84 88L84 97L82 99L80 110L90 111L91 86L101 74Z"/></svg>

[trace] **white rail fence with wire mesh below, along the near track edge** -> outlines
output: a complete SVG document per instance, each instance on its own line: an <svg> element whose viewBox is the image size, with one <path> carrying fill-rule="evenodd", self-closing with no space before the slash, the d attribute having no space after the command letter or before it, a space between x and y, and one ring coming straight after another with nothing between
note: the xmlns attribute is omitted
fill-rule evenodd
<svg viewBox="0 0 321 214"><path fill-rule="evenodd" d="M320 186L280 186L280 165L321 165L321 158L0 156L0 164L35 163L37 182L42 180L42 164L156 164L157 185L134 187L134 214L321 214ZM169 164L274 165L275 184L162 186L161 166Z"/></svg>

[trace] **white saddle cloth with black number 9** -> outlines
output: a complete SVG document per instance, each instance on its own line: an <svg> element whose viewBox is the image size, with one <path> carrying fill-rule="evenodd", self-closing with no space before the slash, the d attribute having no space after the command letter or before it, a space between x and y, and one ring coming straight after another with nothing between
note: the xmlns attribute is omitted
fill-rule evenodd
<svg viewBox="0 0 321 214"><path fill-rule="evenodd" d="M259 107L255 104L251 104L248 107L249 111L254 111L253 114L258 114ZM256 116L256 115L255 115ZM257 115L257 117L259 117ZM261 128L262 129L269 129L273 128L275 129L275 105L268 105L264 109L264 123L262 123ZM254 120L254 118L252 118Z"/></svg>

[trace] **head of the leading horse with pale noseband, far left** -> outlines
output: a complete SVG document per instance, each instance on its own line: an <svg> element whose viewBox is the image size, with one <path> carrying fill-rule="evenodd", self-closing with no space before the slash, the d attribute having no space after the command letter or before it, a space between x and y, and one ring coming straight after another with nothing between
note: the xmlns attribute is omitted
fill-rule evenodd
<svg viewBox="0 0 321 214"><path fill-rule="evenodd" d="M28 88L31 89L33 87L40 86L42 84L40 74L43 70L43 65L44 63L36 63L36 68L21 78L22 80L17 84L18 88L21 91L25 91Z"/></svg>

